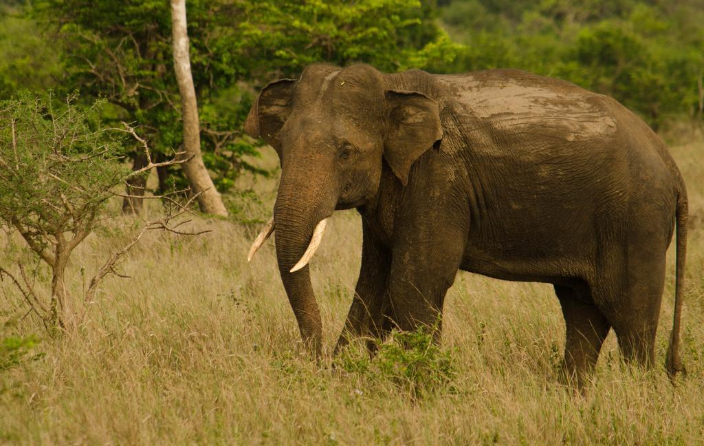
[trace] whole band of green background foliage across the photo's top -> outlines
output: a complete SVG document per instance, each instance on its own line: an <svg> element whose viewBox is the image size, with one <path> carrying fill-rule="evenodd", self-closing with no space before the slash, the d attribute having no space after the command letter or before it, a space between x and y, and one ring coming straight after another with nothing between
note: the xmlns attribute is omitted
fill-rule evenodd
<svg viewBox="0 0 704 446"><path fill-rule="evenodd" d="M189 0L187 14L203 158L220 192L256 170L243 158L256 142L241 135L256 90L315 61L522 68L610 94L656 129L702 119L698 0ZM139 123L170 154L182 141L170 26L166 0L6 0L0 99L46 88L102 97L104 120Z"/></svg>

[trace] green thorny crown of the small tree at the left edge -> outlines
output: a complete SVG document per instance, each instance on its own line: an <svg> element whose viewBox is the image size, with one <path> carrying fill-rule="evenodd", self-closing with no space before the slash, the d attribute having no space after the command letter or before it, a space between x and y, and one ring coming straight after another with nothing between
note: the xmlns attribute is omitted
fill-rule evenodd
<svg viewBox="0 0 704 446"><path fill-rule="evenodd" d="M0 102L0 220L39 245L89 230L127 175L120 138L96 123L100 104L73 102L57 106L51 94Z"/></svg>

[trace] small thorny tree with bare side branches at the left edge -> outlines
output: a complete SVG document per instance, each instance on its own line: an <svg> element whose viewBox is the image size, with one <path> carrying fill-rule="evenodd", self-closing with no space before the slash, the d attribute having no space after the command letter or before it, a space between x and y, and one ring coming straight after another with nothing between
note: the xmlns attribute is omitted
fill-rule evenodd
<svg viewBox="0 0 704 446"><path fill-rule="evenodd" d="M58 107L53 97L41 94L0 102L0 227L24 240L22 247L7 237L7 252L17 254L18 271L0 265L0 279L10 278L50 329L75 326L77 302L66 286L66 267L74 249L99 223L115 187L133 175L180 162L153 163L146 143L132 128L103 128L96 123L99 104L82 109L74 99ZM120 162L124 132L143 144L149 162L142 171L131 172ZM90 280L86 299L92 299L100 280L115 272L115 261L144 231L171 230L178 215L146 223L132 242L108 257ZM51 277L48 293L37 288L42 265Z"/></svg>

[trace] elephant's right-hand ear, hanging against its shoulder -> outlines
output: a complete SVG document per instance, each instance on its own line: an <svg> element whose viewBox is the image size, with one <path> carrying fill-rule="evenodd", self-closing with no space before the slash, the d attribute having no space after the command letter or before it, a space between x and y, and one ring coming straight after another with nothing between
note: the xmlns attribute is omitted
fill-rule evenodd
<svg viewBox="0 0 704 446"><path fill-rule="evenodd" d="M386 91L389 127L384 140L384 158L403 185L408 184L410 166L442 139L438 104L418 92Z"/></svg>

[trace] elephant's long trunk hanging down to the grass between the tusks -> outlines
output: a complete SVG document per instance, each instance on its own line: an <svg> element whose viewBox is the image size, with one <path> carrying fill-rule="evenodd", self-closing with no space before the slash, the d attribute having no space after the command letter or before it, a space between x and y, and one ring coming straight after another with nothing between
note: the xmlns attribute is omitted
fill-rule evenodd
<svg viewBox="0 0 704 446"><path fill-rule="evenodd" d="M306 176L301 178L308 180ZM313 239L318 238L320 242L321 226L325 228L325 218L332 215L337 202L337 197L330 190L327 188L322 193L325 188L311 190L310 185L301 187L284 173L274 208L276 255L281 280L298 321L303 343L317 355L320 355L322 348L322 324L307 260L315 251L310 249L315 244Z"/></svg>

